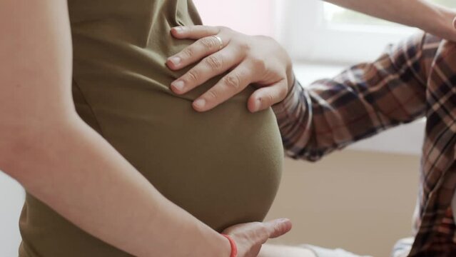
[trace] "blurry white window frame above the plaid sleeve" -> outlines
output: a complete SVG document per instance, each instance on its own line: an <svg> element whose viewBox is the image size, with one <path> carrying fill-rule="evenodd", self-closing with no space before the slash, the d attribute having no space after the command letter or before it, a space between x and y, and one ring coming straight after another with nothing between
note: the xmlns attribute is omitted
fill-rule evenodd
<svg viewBox="0 0 456 257"><path fill-rule="evenodd" d="M388 44L417 31L405 26L329 24L321 0L276 0L275 4L275 36L295 61L329 64L371 61Z"/></svg>

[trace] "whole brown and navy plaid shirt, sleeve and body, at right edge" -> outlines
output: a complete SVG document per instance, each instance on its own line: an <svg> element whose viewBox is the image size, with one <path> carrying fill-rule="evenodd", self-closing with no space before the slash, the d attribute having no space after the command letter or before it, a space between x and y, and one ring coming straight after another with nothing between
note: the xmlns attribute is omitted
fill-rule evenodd
<svg viewBox="0 0 456 257"><path fill-rule="evenodd" d="M426 117L415 238L392 256L456 256L456 44L417 34L334 79L296 82L273 109L287 155L309 161Z"/></svg>

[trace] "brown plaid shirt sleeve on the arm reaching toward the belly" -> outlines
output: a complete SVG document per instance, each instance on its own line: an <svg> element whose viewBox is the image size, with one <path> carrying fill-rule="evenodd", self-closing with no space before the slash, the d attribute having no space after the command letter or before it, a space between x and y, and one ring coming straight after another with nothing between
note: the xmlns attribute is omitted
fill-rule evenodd
<svg viewBox="0 0 456 257"><path fill-rule="evenodd" d="M273 106L286 154L317 161L424 116L426 78L435 54L427 53L425 41L425 34L417 34L333 79L305 87L296 81L286 99Z"/></svg>

